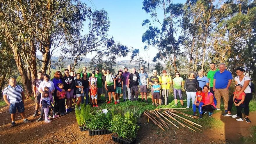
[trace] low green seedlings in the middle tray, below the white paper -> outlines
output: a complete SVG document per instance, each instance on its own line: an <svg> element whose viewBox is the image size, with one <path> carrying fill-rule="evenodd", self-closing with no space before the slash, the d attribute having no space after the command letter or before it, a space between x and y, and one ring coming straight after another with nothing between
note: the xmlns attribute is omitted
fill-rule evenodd
<svg viewBox="0 0 256 144"><path fill-rule="evenodd" d="M90 130L109 129L111 126L111 114L110 113L96 113L92 116L91 120L86 125L86 128Z"/></svg>

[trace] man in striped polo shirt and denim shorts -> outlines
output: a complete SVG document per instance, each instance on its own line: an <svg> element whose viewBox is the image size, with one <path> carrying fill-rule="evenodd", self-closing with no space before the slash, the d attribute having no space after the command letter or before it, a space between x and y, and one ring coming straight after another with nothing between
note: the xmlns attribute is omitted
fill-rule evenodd
<svg viewBox="0 0 256 144"><path fill-rule="evenodd" d="M16 85L16 79L14 77L11 77L9 79L9 86L4 88L3 99L6 102L6 104L8 104L8 106L10 107L9 111L12 118L11 127L15 126L16 109L22 116L23 122L30 122L30 120L26 119L26 115L24 112L24 91L21 86Z"/></svg>

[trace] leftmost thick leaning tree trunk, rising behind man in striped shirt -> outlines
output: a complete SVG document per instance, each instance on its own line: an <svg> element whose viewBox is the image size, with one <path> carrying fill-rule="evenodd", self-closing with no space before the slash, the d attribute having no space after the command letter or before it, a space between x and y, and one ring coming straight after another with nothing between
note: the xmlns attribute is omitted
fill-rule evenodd
<svg viewBox="0 0 256 144"><path fill-rule="evenodd" d="M17 68L19 70L19 74L22 77L22 83L24 86L26 97L31 96L32 94L32 81L29 79L27 72L24 68L24 64L22 63L22 56L18 51L18 47L15 47L13 43L10 43L10 46L13 49L14 59L15 63L17 65Z"/></svg>

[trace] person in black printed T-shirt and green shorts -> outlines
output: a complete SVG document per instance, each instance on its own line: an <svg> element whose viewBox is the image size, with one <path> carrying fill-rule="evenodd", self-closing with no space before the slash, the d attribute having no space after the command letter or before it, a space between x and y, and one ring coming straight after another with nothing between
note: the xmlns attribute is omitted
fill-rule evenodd
<svg viewBox="0 0 256 144"><path fill-rule="evenodd" d="M119 70L118 74L115 75L115 83L116 83L116 88L115 88L115 93L116 93L116 101L118 104L120 104L120 94L122 93L123 90L123 82L124 82L124 77L122 76L123 71Z"/></svg>

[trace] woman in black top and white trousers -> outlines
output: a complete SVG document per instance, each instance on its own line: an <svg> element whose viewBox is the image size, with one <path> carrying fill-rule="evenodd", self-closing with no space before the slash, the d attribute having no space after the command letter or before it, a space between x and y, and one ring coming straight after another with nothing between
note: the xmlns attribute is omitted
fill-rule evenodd
<svg viewBox="0 0 256 144"><path fill-rule="evenodd" d="M199 88L198 80L195 78L195 73L190 72L189 77L185 81L184 88L187 94L187 109L189 109L190 99L192 98L192 103L195 102L196 90Z"/></svg>

